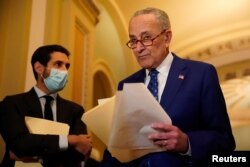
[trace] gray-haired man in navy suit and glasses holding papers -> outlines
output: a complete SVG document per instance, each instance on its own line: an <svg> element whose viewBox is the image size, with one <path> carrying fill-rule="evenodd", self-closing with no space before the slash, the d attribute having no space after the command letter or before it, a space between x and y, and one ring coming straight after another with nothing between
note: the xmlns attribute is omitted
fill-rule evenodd
<svg viewBox="0 0 250 167"><path fill-rule="evenodd" d="M232 152L235 141L216 70L169 51L172 31L168 15L156 8L137 11L129 22L129 38L127 46L142 69L122 80L118 89L137 82L151 87L151 73L156 71L153 94L172 125L152 122L151 127L158 132L148 136L166 151L122 164L106 150L101 166L201 167L212 154Z"/></svg>

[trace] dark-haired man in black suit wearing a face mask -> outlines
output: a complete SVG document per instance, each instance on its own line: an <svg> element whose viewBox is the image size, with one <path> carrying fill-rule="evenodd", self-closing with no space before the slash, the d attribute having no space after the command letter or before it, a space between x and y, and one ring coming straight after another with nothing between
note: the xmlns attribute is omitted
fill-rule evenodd
<svg viewBox="0 0 250 167"><path fill-rule="evenodd" d="M39 47L31 60L36 85L28 92L5 97L0 103L0 132L6 143L1 166L14 166L15 160L38 161L53 167L81 166L90 155L92 141L81 121L83 107L58 94L67 82L69 55L60 45ZM45 95L52 100L48 102L49 114L44 106ZM66 123L70 126L69 135L31 134L25 116Z"/></svg>

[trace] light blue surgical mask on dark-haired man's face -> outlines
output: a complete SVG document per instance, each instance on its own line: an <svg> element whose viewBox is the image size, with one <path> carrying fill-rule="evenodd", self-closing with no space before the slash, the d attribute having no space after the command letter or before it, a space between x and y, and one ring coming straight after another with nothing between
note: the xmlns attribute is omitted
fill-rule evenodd
<svg viewBox="0 0 250 167"><path fill-rule="evenodd" d="M47 78L43 78L50 93L55 93L64 88L68 81L68 71L52 68Z"/></svg>

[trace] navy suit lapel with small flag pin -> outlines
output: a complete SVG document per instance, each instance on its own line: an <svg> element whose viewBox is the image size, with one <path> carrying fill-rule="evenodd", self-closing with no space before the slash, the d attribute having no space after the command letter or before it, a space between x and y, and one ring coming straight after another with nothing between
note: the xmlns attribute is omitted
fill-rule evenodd
<svg viewBox="0 0 250 167"><path fill-rule="evenodd" d="M177 56L174 56L174 60L171 65L167 82L160 101L161 106L166 111L168 111L168 108L175 98L175 95L177 94L183 81L185 80L187 72L188 68L186 68L183 60L178 58Z"/></svg>

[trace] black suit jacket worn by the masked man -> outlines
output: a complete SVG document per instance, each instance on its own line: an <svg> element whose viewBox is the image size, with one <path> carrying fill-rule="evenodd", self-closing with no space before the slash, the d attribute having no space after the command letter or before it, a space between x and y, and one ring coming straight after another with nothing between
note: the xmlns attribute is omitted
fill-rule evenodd
<svg viewBox="0 0 250 167"><path fill-rule="evenodd" d="M81 121L83 112L82 106L57 96L57 121L68 124L70 134L86 134L86 126ZM46 166L74 166L74 162L84 160L84 156L73 148L60 151L57 135L30 134L24 122L25 116L43 117L34 88L26 93L7 96L0 103L0 132L7 147L2 166L14 165L9 160L9 149L19 157L42 157Z"/></svg>

